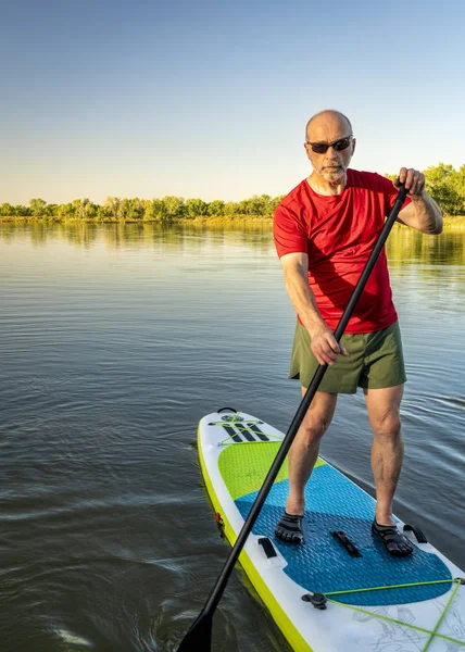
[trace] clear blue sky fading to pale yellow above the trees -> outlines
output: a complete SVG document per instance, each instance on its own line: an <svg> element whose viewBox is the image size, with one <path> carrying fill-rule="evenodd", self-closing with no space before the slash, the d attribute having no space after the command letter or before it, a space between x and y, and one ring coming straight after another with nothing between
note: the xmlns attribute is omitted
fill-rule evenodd
<svg viewBox="0 0 465 652"><path fill-rule="evenodd" d="M285 195L324 109L354 168L458 168L464 25L463 0L4 1L0 203Z"/></svg>

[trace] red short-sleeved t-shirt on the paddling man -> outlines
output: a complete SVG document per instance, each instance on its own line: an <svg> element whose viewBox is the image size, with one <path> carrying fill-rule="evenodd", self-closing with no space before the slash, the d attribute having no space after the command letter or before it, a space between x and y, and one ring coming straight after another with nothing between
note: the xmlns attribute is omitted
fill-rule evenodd
<svg viewBox="0 0 465 652"><path fill-rule="evenodd" d="M303 180L278 204L274 220L279 258L296 252L309 255L309 284L331 330L398 197L392 181L378 174L348 170L347 175L343 191L330 197L318 195ZM375 333L397 319L382 250L345 333Z"/></svg>

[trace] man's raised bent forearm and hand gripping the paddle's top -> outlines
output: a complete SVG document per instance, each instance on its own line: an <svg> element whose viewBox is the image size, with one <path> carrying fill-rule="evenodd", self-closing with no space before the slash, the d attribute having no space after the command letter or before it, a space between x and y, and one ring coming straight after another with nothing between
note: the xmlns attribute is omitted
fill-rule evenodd
<svg viewBox="0 0 465 652"><path fill-rule="evenodd" d="M412 202L399 213L398 222L423 234L442 233L442 212L425 190L425 175L417 170L401 167L399 178L392 181L397 190L404 184Z"/></svg>

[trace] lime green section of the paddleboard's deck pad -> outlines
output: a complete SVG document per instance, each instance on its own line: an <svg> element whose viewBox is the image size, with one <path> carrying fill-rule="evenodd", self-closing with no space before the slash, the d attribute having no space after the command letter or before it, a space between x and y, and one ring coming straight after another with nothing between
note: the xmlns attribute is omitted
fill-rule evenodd
<svg viewBox="0 0 465 652"><path fill-rule="evenodd" d="M218 468L232 500L261 489L279 447L278 441L244 441L225 447L218 457ZM326 462L318 457L315 467L323 464ZM275 482L288 477L286 459Z"/></svg>

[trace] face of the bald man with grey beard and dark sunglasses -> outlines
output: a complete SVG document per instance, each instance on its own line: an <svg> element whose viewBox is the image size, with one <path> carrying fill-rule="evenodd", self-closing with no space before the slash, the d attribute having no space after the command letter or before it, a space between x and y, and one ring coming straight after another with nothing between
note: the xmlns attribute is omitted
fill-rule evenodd
<svg viewBox="0 0 465 652"><path fill-rule="evenodd" d="M304 147L313 170L325 181L337 184L349 167L355 150L355 139L352 138L349 125L343 120L334 116L321 116L312 121L306 134ZM315 152L310 142L324 145L331 142L326 152ZM325 147L316 146L315 149L324 150Z"/></svg>

